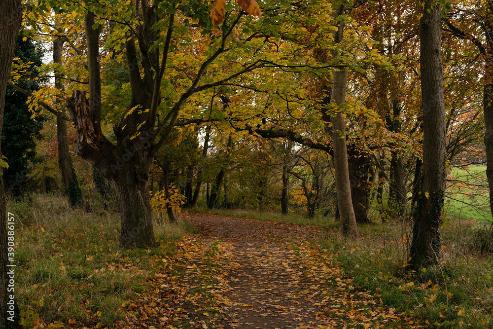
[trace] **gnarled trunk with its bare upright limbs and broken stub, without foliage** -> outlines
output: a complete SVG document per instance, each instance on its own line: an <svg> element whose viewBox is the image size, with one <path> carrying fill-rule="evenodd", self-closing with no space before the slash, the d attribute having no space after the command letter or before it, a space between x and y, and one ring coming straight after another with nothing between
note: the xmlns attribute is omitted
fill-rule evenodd
<svg viewBox="0 0 493 329"><path fill-rule="evenodd" d="M145 7L146 3L141 5ZM154 11L148 9L143 15L145 26L142 29L155 22ZM152 95L159 93L159 90L152 89L152 85L158 77L151 78L155 73L144 70L142 80L139 70L135 70L135 65L138 64L135 44L132 38L128 38L125 44L132 99L120 123L113 127L116 138L116 145L113 145L101 133L99 30L92 28L93 23L94 15L87 13L85 37L89 68L89 101L83 91L74 91L72 97L67 100L67 108L77 132L75 151L106 178L115 191L122 221L120 247L155 247L157 244L152 228L148 180L155 149L159 147L151 149L153 127L149 130L144 128L139 130L139 127L143 122L150 120L150 112L153 112ZM170 26L172 25L173 19L170 20ZM170 28L169 31L171 30ZM136 64L133 64L134 60ZM145 68L150 65L146 57L141 63ZM93 107L91 108L89 104ZM137 106L151 111L132 110ZM155 110L155 107L153 109ZM165 140L165 138L161 139L163 142Z"/></svg>

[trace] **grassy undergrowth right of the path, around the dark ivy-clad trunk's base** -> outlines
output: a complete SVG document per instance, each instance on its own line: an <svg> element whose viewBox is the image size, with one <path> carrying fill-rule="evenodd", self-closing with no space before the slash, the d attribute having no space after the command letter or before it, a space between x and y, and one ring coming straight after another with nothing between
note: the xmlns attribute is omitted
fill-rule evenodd
<svg viewBox="0 0 493 329"><path fill-rule="evenodd" d="M445 224L440 263L417 271L407 264L410 231L410 223L373 224L362 226L357 240L335 236L319 243L336 254L356 286L389 308L430 328L491 328L493 266L482 229Z"/></svg>

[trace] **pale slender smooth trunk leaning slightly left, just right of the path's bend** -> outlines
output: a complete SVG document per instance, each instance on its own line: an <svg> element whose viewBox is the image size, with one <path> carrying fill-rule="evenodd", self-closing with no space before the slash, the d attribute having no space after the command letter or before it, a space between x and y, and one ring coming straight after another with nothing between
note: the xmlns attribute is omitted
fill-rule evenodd
<svg viewBox="0 0 493 329"><path fill-rule="evenodd" d="M344 12L344 5L340 5L334 13L334 20ZM334 32L334 44L339 43L343 37L343 23L338 22L339 29ZM337 57L337 51L332 51L332 57ZM330 103L340 105L346 101L346 89L348 84L347 68L334 70ZM341 219L341 231L345 237L357 236L356 217L352 208L351 182L348 170L348 148L346 145L346 124L341 113L332 117L332 140L334 147L334 171L336 179L337 204Z"/></svg>

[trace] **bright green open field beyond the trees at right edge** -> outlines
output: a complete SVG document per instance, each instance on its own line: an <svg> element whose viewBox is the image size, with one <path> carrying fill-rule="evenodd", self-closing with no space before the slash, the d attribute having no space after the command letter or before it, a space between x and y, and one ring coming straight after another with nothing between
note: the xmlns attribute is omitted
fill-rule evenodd
<svg viewBox="0 0 493 329"><path fill-rule="evenodd" d="M447 180L446 219L492 221L486 167L452 168Z"/></svg>

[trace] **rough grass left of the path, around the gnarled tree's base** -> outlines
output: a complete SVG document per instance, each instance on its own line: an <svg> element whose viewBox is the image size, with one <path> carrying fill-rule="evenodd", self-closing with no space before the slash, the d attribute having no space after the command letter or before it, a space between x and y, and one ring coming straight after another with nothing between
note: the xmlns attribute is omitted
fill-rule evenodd
<svg viewBox="0 0 493 329"><path fill-rule="evenodd" d="M16 297L25 327L67 325L69 320L90 328L115 327L124 320L122 303L146 291L147 278L159 270L154 255L173 255L176 241L194 229L183 220L171 225L157 215L154 231L160 246L122 251L119 214L98 205L93 209L72 210L63 196L8 202L7 211L16 219Z"/></svg>

